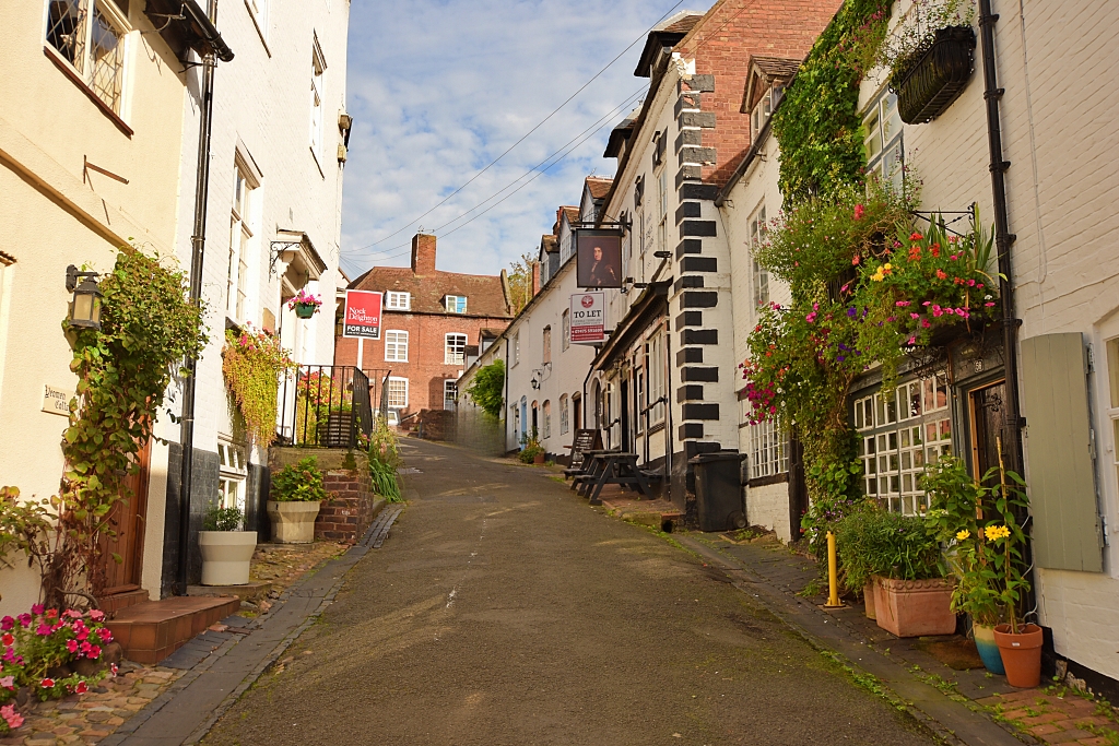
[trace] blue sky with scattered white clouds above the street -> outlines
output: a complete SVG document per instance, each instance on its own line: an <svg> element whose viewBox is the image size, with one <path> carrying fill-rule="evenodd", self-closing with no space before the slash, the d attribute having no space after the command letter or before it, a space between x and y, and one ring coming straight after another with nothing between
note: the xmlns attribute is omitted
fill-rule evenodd
<svg viewBox="0 0 1119 746"><path fill-rule="evenodd" d="M633 68L650 27L709 4L354 0L342 268L356 277L374 265L406 265L420 227L439 237L443 271L497 274L535 253L556 208L579 204L584 177L613 176L617 161L602 151L648 89Z"/></svg>

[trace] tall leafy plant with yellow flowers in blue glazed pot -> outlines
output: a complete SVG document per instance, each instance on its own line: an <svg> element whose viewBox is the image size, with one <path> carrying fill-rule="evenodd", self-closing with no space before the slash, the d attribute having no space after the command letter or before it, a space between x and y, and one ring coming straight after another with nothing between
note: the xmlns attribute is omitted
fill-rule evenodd
<svg viewBox="0 0 1119 746"><path fill-rule="evenodd" d="M952 611L971 617L971 634L984 667L1003 674L1003 657L995 643L995 627L1002 621L1002 583L995 567L997 547L985 529L1005 525L1005 519L1002 513L994 520L982 519L997 508L996 490L985 487L993 478L994 470L977 481L968 474L962 460L941 456L925 469L922 483L930 500L929 522L946 546L944 557L957 580Z"/></svg>

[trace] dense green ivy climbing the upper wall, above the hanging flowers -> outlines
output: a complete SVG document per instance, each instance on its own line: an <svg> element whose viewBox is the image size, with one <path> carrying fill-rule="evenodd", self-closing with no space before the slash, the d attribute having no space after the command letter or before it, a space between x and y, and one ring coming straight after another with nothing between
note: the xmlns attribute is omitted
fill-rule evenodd
<svg viewBox="0 0 1119 746"><path fill-rule="evenodd" d="M886 35L891 0L847 0L773 114L786 202L827 195L866 167L858 85Z"/></svg>

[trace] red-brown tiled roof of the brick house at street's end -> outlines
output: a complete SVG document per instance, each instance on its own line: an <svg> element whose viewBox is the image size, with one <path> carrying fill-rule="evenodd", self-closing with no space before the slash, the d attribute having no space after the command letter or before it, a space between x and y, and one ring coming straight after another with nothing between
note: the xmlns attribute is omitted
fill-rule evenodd
<svg viewBox="0 0 1119 746"><path fill-rule="evenodd" d="M466 295L467 313L470 317L492 317L511 319L506 305L501 277L495 275L459 274L458 272L435 272L435 276L417 277L412 267L373 267L349 284L351 290L388 290L412 294L412 311L421 313L446 313L443 299L446 295ZM388 313L394 313L388 311Z"/></svg>

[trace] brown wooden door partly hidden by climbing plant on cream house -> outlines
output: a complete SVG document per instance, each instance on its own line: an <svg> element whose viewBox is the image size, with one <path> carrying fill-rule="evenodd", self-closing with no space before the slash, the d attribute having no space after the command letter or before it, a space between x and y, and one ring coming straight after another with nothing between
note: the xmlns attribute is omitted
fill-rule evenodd
<svg viewBox="0 0 1119 746"><path fill-rule="evenodd" d="M140 451L140 472L129 476L132 497L121 500L110 513L110 526L115 537L102 537L101 569L104 589L101 596L129 593L140 588L143 572L143 537L148 516L148 476L151 464L151 441ZM116 561L113 555L121 561Z"/></svg>

